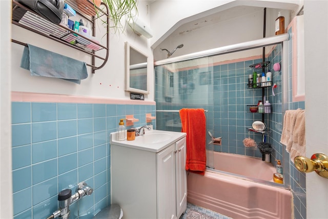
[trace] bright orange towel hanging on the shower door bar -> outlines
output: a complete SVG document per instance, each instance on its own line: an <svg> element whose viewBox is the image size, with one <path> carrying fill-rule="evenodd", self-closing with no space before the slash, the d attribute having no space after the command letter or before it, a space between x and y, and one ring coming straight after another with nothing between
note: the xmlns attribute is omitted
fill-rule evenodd
<svg viewBox="0 0 328 219"><path fill-rule="evenodd" d="M206 169L206 117L204 109L179 111L182 132L187 133L186 170L204 175Z"/></svg>

